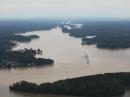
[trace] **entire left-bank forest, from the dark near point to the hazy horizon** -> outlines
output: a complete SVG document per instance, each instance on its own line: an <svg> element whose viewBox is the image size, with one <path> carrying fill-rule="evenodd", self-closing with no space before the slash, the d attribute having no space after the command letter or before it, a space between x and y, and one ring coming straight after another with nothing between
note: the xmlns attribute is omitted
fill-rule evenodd
<svg viewBox="0 0 130 97"><path fill-rule="evenodd" d="M16 67L16 66L32 66L53 64L54 60L45 58L36 58L33 49L25 49L20 51L12 51L17 42L30 42L32 39L37 39L39 36L30 35L23 36L19 33L34 30L49 30L55 27L54 21L35 21L35 20L9 20L0 21L0 68L1 67ZM33 53L33 54L32 54Z"/></svg>

